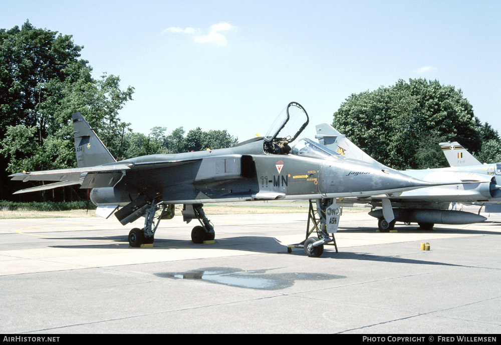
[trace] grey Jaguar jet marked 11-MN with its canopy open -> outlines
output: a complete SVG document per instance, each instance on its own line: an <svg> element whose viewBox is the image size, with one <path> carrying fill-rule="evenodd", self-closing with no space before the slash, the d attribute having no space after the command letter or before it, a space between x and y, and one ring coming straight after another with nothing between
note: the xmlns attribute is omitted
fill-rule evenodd
<svg viewBox="0 0 501 345"><path fill-rule="evenodd" d="M109 217L120 208L115 216L123 225L145 217L143 228L129 232L132 247L153 243L160 220L173 217L175 204L184 205L184 221L198 219L200 225L192 229L191 239L202 243L215 236L203 211L204 203L313 199L320 217L320 239L307 238L304 250L309 256L320 256L323 245L333 241L324 230L326 214L332 215L329 229L334 227L332 233L337 230L340 212L336 198L363 198L437 185L344 158L309 139L291 147L309 123L306 110L295 102L280 113L265 137L227 149L156 154L119 162L80 113L72 117L78 167L11 175L13 180L25 182L57 181L16 193L67 185L90 189L99 215Z"/></svg>

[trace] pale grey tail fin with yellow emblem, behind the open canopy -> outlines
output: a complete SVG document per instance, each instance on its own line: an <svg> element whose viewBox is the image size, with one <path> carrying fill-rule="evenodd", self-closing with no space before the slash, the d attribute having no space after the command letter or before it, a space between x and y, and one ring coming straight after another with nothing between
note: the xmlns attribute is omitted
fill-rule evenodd
<svg viewBox="0 0 501 345"><path fill-rule="evenodd" d="M381 165L381 163L362 151L350 140L346 139L346 135L339 133L331 125L321 123L320 125L315 126L315 129L317 130L315 138L318 139L320 145L323 145L347 158L358 159L367 163Z"/></svg>

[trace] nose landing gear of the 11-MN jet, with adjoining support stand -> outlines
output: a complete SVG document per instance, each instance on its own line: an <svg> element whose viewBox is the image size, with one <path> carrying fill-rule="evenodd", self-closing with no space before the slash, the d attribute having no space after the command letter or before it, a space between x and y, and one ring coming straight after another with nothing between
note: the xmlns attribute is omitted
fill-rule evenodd
<svg viewBox="0 0 501 345"><path fill-rule="evenodd" d="M334 245L334 247L336 248L336 253L338 252L338 246L336 244L336 239L334 238L334 233L331 233L332 238L327 233L327 218L333 218L326 216L326 210L331 210L332 208L330 208L330 206L333 203L334 202L332 199L317 200L317 211L315 211L313 208L313 202L312 200L310 200L308 224L306 227L306 239L301 243L288 245L288 253L292 252L292 248L303 248L306 255L310 257L319 257L324 253L324 245ZM318 219L315 216L315 213L318 214ZM339 219L340 214L337 214L337 216L337 219ZM312 224L311 228L310 224ZM318 237L310 237L313 231L317 232Z"/></svg>

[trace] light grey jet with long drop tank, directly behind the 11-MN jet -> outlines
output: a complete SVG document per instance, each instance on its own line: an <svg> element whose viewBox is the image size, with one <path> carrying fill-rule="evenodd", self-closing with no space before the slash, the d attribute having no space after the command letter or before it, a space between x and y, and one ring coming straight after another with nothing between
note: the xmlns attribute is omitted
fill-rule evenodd
<svg viewBox="0 0 501 345"><path fill-rule="evenodd" d="M320 144L330 148L344 157L355 158L371 164L373 167L384 167L363 152L336 131L332 126L323 123L316 126L316 138ZM391 170L390 168L385 167ZM395 222L418 223L422 229L432 229L434 224L469 224L482 222L487 218L463 211L448 210L450 202L501 201L501 186L497 185L494 176L475 173L474 169L439 168L401 171L406 175L428 182L462 181L463 184L433 186L387 196L362 196L344 198L340 205L353 203L370 204L373 208L369 214L378 218L380 230L393 229ZM493 175L494 173L492 173ZM499 174L499 171L497 172ZM375 208L375 209L374 209Z"/></svg>

